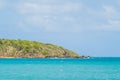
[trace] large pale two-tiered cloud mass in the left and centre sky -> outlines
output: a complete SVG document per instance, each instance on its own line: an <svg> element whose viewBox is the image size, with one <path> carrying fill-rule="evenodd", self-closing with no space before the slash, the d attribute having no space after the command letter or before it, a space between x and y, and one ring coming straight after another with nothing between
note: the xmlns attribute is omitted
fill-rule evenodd
<svg viewBox="0 0 120 80"><path fill-rule="evenodd" d="M55 1L55 0L53 0ZM70 16L70 13L80 12L82 6L80 3L63 2L52 4L48 1L38 2L21 2L17 5L17 11L24 16L20 23L26 25L25 29L31 28L44 29L50 32L71 32L79 31L78 27L71 24L75 21ZM28 26L28 27L27 27ZM69 26L69 27L68 27Z"/></svg>

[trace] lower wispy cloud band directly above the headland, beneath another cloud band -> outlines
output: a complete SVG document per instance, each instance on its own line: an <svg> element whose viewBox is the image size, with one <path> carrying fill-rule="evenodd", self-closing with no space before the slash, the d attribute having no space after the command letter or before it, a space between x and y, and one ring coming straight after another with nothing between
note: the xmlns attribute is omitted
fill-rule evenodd
<svg viewBox="0 0 120 80"><path fill-rule="evenodd" d="M27 16L24 21L19 23L19 26L21 26L21 28L27 32L33 31L35 29L40 29L47 32L81 31L81 27L79 27L79 24L75 24L75 19L68 16Z"/></svg>

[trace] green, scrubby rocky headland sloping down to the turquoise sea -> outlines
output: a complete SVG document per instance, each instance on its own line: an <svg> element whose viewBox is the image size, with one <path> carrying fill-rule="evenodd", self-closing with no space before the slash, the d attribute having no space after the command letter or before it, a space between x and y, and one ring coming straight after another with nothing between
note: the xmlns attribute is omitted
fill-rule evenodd
<svg viewBox="0 0 120 80"><path fill-rule="evenodd" d="M63 47L29 40L0 39L0 57L15 58L77 58L73 51Z"/></svg>

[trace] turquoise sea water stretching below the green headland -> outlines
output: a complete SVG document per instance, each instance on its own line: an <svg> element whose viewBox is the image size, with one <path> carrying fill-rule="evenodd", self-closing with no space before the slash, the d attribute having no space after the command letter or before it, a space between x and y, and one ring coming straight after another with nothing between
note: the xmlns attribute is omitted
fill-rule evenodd
<svg viewBox="0 0 120 80"><path fill-rule="evenodd" d="M0 80L120 80L120 58L0 59Z"/></svg>

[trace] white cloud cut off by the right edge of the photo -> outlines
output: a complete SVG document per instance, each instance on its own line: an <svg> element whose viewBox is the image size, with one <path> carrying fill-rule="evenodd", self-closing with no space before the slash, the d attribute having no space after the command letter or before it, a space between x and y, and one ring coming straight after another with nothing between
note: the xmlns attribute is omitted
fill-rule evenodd
<svg viewBox="0 0 120 80"><path fill-rule="evenodd" d="M103 17L107 16L106 24L100 26L99 29L109 31L120 31L120 12L114 6L104 6Z"/></svg>

